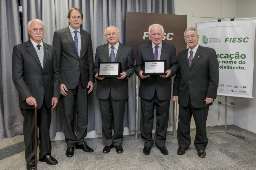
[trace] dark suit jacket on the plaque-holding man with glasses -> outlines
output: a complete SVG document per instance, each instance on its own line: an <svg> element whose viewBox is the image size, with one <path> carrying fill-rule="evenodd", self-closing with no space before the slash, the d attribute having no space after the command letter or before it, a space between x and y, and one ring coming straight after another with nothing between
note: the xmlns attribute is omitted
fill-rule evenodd
<svg viewBox="0 0 256 170"><path fill-rule="evenodd" d="M99 72L99 62L110 62L108 43L98 46L96 49L93 68L94 76ZM96 97L101 100L106 100L110 91L114 100L125 100L128 98L127 79L134 73L132 48L119 42L115 62L121 62L122 72L125 72L127 76L123 80L118 80L117 78L104 78L103 80L99 80Z"/></svg>

